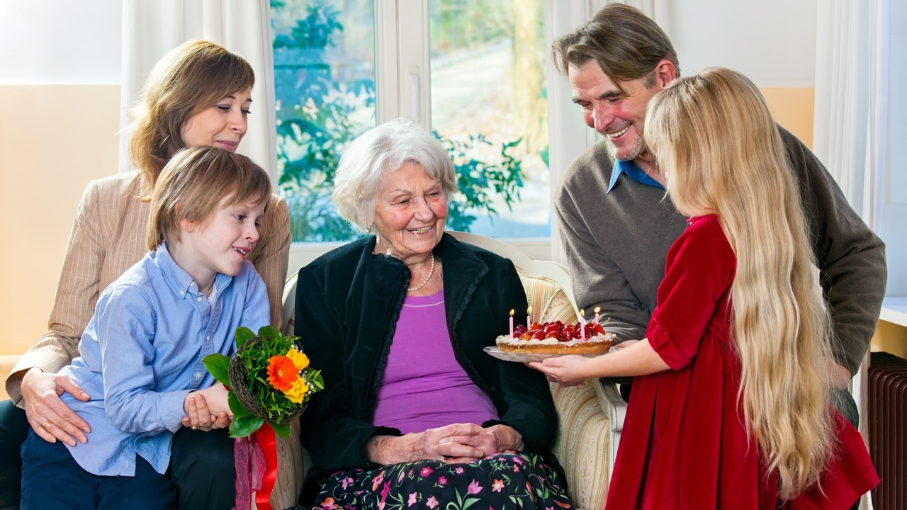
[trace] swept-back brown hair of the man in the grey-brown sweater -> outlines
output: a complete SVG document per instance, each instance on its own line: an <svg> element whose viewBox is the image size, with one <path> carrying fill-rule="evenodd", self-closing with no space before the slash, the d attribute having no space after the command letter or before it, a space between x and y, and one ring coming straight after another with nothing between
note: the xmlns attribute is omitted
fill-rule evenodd
<svg viewBox="0 0 907 510"><path fill-rule="evenodd" d="M655 84L653 71L668 59L680 75L678 54L668 35L639 9L609 4L571 34L551 44L551 57L559 73L570 67L583 68L592 61L612 82L646 78L646 87Z"/></svg>

